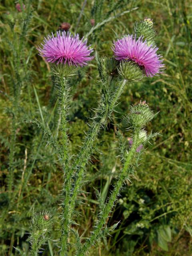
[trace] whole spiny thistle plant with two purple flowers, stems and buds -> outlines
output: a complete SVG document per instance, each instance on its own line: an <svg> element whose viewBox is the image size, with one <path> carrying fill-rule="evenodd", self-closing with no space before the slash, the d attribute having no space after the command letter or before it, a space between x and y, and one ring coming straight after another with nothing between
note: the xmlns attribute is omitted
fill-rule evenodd
<svg viewBox="0 0 192 256"><path fill-rule="evenodd" d="M146 26L144 35L142 35L141 26ZM100 88L100 100L95 108L95 114L89 122L89 130L86 133L84 142L76 156L72 156L68 146L68 108L70 100L69 77L76 74L79 68L85 66L94 56L90 56L93 49L87 46L87 40L80 39L78 34L72 36L70 33L57 32L56 36L48 36L44 39L44 44L38 47L40 55L46 62L51 63L52 74L55 77L56 87L58 89L59 112L60 112L60 135L58 140L49 127L39 124L44 128L44 133L48 136L49 144L54 148L58 160L60 161L64 175L62 186L62 213L60 218L61 236L60 236L60 256L67 256L69 251L68 238L71 233L76 235L76 256L84 256L90 247L103 236L106 236L111 230L116 228L106 227L106 220L112 211L114 204L120 194L120 190L126 179L129 179L130 168L134 165L135 158L140 150L138 147L143 146L154 135L147 135L145 126L154 117L145 102L141 102L130 107L129 113L122 118L118 125L117 137L119 139L119 151L121 168L117 173L116 182L112 188L109 198L104 202L100 192L96 192L100 202L98 220L93 227L89 238L81 243L77 230L72 228L74 224L74 213L78 194L82 190L84 177L86 175L86 166L92 153L96 148L96 140L99 133L112 120L112 113L120 99L125 86L131 82L139 82L144 77L152 77L162 72L162 58L157 54L158 48L149 41L154 40L154 30L150 20L144 20L142 23L136 23L135 31L141 34L126 35L114 41L112 50L114 57L107 58L98 56L95 53L96 62L100 80L97 84ZM139 33L137 33L139 34ZM149 41L148 41L149 40ZM132 130L132 145L130 150L126 150L126 143L122 131ZM45 222L46 223L46 222ZM32 251L37 253L38 245L42 242L38 234L32 232Z"/></svg>

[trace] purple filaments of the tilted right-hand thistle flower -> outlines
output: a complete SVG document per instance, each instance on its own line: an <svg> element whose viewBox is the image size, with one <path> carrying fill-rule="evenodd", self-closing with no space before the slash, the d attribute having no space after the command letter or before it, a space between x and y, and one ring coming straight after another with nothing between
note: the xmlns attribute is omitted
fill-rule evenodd
<svg viewBox="0 0 192 256"><path fill-rule="evenodd" d="M147 42L142 42L142 37L136 40L136 37L128 35L114 42L112 50L116 60L132 60L144 68L146 76L154 76L161 73L164 65L162 56L156 52L157 47L148 46Z"/></svg>

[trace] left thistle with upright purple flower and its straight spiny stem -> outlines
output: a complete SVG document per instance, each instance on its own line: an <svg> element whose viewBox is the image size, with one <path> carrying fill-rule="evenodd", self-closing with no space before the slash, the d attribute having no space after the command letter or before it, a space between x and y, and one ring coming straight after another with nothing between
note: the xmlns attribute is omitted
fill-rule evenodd
<svg viewBox="0 0 192 256"><path fill-rule="evenodd" d="M62 152L61 161L64 172L64 185L63 185L63 201L62 201L62 235L60 239L61 250L60 255L64 255L66 252L66 244L68 238L68 230L70 225L70 218L68 214L70 212L70 193L71 193L71 178L72 169L70 168L70 158L68 152L68 135L67 135L67 109L69 98L69 87L67 83L67 77L74 74L75 68L78 66L84 66L87 61L92 60L90 56L92 49L88 49L86 41L83 42L83 38L80 40L79 36L71 36L70 33L60 32L57 36L52 38L48 36L48 39L44 40L43 48L38 48L40 54L46 58L47 62L55 63L52 67L54 76L56 77L56 84L59 92L60 99L60 115L61 115L61 132L62 132Z"/></svg>

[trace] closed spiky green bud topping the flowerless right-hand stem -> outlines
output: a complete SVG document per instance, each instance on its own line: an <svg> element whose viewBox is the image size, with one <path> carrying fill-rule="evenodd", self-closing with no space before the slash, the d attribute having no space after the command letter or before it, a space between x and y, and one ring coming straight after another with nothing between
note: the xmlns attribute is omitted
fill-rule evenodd
<svg viewBox="0 0 192 256"><path fill-rule="evenodd" d="M153 117L154 112L149 108L149 106L145 102L140 102L137 105L131 106L130 113L122 118L120 128L122 130L126 130L131 127L134 129L142 129L153 119ZM146 134L143 132L140 136L142 139L146 138Z"/></svg>

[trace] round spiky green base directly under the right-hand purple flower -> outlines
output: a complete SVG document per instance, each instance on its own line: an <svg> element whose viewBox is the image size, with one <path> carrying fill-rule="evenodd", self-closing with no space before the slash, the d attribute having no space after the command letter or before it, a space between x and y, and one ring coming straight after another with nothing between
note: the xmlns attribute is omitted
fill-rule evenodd
<svg viewBox="0 0 192 256"><path fill-rule="evenodd" d="M121 62L118 67L118 72L120 76L130 82L139 82L144 77L143 70L131 61Z"/></svg>

